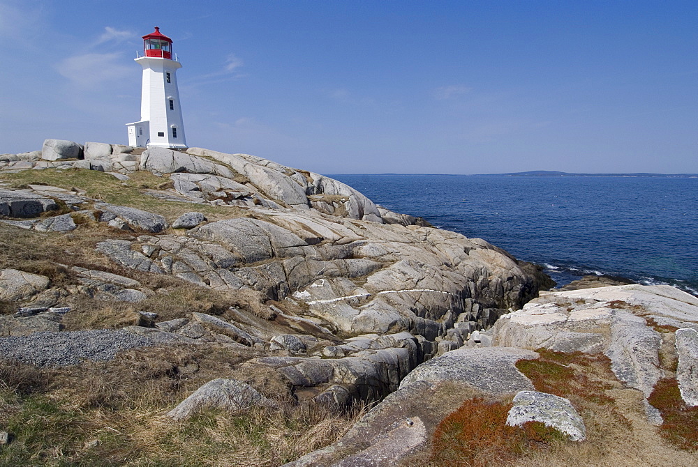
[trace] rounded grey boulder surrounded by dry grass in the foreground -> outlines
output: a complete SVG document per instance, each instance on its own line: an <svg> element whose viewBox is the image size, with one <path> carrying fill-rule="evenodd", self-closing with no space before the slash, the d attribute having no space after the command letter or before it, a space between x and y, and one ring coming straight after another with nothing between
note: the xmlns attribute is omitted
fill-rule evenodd
<svg viewBox="0 0 698 467"><path fill-rule="evenodd" d="M179 421L209 408L237 412L258 405L273 404L247 383L218 378L195 390L191 396L168 412L168 417Z"/></svg>

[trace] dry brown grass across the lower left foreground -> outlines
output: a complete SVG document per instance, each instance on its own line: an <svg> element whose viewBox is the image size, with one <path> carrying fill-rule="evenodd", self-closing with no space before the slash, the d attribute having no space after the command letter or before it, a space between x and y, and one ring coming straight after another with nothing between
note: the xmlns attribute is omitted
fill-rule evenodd
<svg viewBox="0 0 698 467"><path fill-rule="evenodd" d="M164 416L203 383L230 377L251 349L134 349L112 362L34 369L0 362L1 465L277 466L336 441L362 415L281 402L279 409ZM96 443L90 443L96 441Z"/></svg>

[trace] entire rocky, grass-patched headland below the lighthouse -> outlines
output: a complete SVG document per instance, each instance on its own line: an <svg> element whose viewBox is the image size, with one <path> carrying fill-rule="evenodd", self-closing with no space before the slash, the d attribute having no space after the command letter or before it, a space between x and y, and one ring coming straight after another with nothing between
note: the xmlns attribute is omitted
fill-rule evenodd
<svg viewBox="0 0 698 467"><path fill-rule="evenodd" d="M626 440L662 424L653 390L672 374L695 401L688 294L632 285L539 297L553 284L535 265L252 155L47 140L0 155L0 216L6 460L60 445L66 461L186 464L209 452L206 464L438 464L453 459L429 450L464 401L510 404L511 424L545 420L567 444L597 443L604 423L628 417ZM558 353L602 391L630 391L625 406L593 392L613 399L612 416L585 427L603 410L578 394L586 386L570 396L521 368L552 371ZM47 400L96 421L75 415L73 438L38 442L17 414ZM347 413L379 401L340 438L357 421ZM521 408L541 404L556 421ZM283 445L255 444L269 420ZM119 435L107 434L113 424ZM202 440L190 454L167 449L189 431Z"/></svg>

